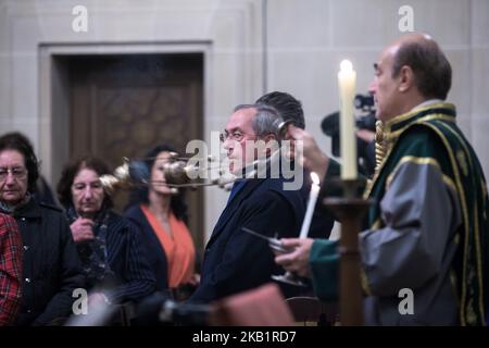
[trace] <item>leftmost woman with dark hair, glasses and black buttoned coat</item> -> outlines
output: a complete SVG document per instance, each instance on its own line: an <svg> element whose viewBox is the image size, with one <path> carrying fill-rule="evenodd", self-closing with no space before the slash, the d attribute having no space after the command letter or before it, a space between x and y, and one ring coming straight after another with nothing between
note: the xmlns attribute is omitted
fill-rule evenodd
<svg viewBox="0 0 489 348"><path fill-rule="evenodd" d="M0 212L16 220L24 251L15 325L62 324L72 313L73 290L85 286L62 211L33 199L38 175L33 148L16 134L0 137Z"/></svg>

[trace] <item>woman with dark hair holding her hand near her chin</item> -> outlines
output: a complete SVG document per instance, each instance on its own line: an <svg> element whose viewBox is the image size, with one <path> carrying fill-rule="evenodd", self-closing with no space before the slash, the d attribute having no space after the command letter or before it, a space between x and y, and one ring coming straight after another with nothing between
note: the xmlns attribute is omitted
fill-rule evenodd
<svg viewBox="0 0 489 348"><path fill-rule="evenodd" d="M96 158L82 158L63 170L58 194L65 208L83 263L89 303L140 301L154 290L154 277L141 253L137 231L111 210L100 176L109 174Z"/></svg>

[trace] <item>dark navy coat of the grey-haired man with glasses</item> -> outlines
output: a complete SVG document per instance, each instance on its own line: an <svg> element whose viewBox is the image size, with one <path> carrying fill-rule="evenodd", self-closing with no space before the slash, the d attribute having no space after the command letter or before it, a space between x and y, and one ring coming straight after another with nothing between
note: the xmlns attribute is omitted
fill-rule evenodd
<svg viewBox="0 0 489 348"><path fill-rule="evenodd" d="M190 302L210 302L272 282L284 270L274 262L266 240L299 235L305 213L300 190L285 191L284 179L250 179L228 202L205 247L201 283ZM287 294L285 294L287 296Z"/></svg>

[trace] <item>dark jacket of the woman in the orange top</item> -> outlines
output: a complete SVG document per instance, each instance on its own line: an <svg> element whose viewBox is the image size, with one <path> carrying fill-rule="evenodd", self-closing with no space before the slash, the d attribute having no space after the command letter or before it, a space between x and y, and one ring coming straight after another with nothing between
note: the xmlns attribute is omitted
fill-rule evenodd
<svg viewBox="0 0 489 348"><path fill-rule="evenodd" d="M140 231L142 250L156 279L156 291L166 291L168 289L168 266L160 239L139 204L128 208L124 212L124 217Z"/></svg>

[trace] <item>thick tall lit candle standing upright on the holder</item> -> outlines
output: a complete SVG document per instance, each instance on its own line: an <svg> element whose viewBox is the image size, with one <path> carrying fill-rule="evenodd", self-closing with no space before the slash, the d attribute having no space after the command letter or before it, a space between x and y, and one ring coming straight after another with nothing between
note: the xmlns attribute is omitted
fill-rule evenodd
<svg viewBox="0 0 489 348"><path fill-rule="evenodd" d="M356 72L350 61L343 60L338 73L340 95L340 151L342 159L341 178L355 179L356 173L356 137L353 115Z"/></svg>

